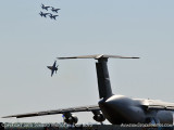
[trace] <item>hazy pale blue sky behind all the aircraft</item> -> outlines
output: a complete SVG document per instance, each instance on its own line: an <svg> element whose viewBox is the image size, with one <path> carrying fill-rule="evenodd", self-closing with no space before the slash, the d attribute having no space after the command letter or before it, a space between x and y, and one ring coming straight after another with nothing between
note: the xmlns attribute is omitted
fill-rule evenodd
<svg viewBox="0 0 174 130"><path fill-rule="evenodd" d="M61 9L57 21L40 17L47 12L41 3ZM113 92L174 102L173 5L173 0L1 1L0 117L98 103L96 61L58 61L51 77L47 66L58 56L139 56L109 60ZM95 122L91 113L76 115L79 123ZM60 122L62 115L0 121Z"/></svg>

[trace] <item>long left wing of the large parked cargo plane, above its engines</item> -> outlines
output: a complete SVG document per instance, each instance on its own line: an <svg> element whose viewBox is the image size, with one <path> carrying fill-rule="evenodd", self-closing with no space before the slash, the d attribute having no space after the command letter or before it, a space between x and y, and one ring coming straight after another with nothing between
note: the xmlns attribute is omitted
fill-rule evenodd
<svg viewBox="0 0 174 130"><path fill-rule="evenodd" d="M77 113L77 112L92 112L92 110L100 110L100 107L98 105L79 106L79 107L60 108L60 109L35 112L27 114L17 114L17 115L4 116L2 118L11 118L11 117L24 118L24 117L46 116L46 115Z"/></svg>

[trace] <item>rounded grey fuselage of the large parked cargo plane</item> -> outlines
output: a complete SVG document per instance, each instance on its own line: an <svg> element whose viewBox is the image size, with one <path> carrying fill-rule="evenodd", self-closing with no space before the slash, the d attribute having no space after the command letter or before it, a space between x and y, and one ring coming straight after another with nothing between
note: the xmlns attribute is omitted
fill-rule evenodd
<svg viewBox="0 0 174 130"><path fill-rule="evenodd" d="M151 100L149 101L151 102ZM153 101L156 102L156 101ZM121 123L173 123L172 110L146 110L148 100L136 100L123 95L112 95L100 100L99 106L105 118L113 125Z"/></svg>

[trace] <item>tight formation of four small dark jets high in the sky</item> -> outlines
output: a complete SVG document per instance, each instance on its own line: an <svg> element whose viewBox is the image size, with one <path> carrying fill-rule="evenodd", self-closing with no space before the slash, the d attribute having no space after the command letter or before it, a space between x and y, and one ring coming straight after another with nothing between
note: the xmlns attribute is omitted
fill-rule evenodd
<svg viewBox="0 0 174 130"><path fill-rule="evenodd" d="M42 4L41 3L41 9L42 10L46 10L46 11L48 11L48 9L51 9L51 11L53 12L53 13L58 13L58 11L59 10L61 10L61 9L55 9L55 8L53 8L53 6L48 6L48 5L45 5L45 4ZM44 13L42 11L40 11L40 16L42 17L47 17L47 16L49 16L51 20L57 20L57 16L59 16L59 15L53 15L53 14L51 14L51 13Z"/></svg>

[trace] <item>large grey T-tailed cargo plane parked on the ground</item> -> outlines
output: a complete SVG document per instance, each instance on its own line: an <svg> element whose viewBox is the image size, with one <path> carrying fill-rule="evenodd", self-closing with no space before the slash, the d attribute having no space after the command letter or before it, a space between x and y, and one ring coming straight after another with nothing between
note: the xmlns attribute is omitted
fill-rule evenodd
<svg viewBox="0 0 174 130"><path fill-rule="evenodd" d="M98 79L99 98L97 105L79 106L70 108L59 108L52 110L44 110L28 114L17 114L5 116L3 118L16 117L34 117L44 115L63 114L64 121L69 125L75 125L78 121L77 116L73 113L91 112L94 119L102 122L108 119L112 125L121 123L167 123L173 125L174 103L163 102L160 100L133 99L125 95L112 93L108 60L109 58L139 58L120 55L85 55L85 56L67 56L58 57L59 60L69 58L95 58ZM65 101L64 101L65 102ZM84 101L85 102L85 101Z"/></svg>

